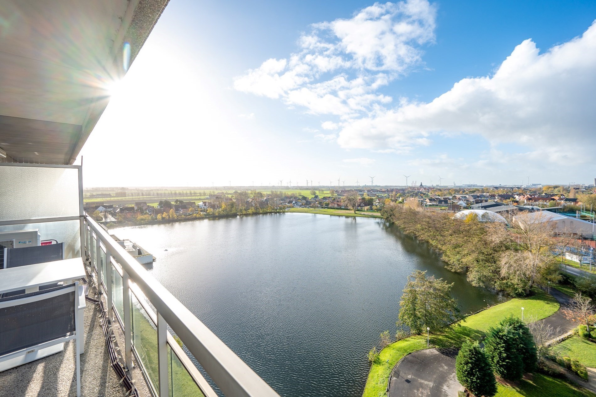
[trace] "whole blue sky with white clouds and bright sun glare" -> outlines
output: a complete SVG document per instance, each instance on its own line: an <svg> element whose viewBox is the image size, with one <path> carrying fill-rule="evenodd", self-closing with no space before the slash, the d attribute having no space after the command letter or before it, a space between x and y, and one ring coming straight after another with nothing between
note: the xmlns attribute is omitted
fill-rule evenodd
<svg viewBox="0 0 596 397"><path fill-rule="evenodd" d="M85 187L593 183L594 1L171 0Z"/></svg>

